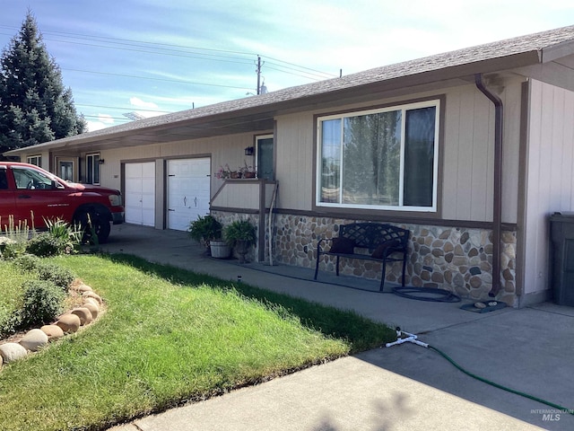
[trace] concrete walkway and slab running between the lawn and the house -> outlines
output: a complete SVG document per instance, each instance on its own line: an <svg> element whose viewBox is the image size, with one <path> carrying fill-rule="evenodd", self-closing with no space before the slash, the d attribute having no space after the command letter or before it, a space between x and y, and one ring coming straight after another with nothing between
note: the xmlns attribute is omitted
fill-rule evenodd
<svg viewBox="0 0 574 431"><path fill-rule="evenodd" d="M466 312L370 292L378 284L303 268L239 266L206 258L187 233L113 226L109 252L352 309L419 335L468 372L574 409L574 308ZM283 275L278 275L281 273ZM337 283L337 284L335 284ZM339 286L338 284L347 286ZM363 290L360 290L363 289ZM480 382L432 349L404 343L344 357L221 397L110 428L168 430L525 430L574 429L574 415Z"/></svg>

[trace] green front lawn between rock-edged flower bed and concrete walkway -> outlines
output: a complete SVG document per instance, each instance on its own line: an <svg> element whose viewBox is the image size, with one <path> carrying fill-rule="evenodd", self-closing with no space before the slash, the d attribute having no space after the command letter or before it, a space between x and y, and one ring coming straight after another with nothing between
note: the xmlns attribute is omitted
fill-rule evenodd
<svg viewBox="0 0 574 431"><path fill-rule="evenodd" d="M3 429L103 429L395 338L352 312L135 257L51 260L82 277L108 310L4 367Z"/></svg>

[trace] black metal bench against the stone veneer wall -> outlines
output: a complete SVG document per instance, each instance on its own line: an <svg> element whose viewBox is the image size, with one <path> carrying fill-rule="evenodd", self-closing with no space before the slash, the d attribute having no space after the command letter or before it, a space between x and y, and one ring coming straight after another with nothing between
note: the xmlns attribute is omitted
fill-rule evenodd
<svg viewBox="0 0 574 431"><path fill-rule="evenodd" d="M339 226L339 236L336 238L322 238L317 242L317 263L315 266L315 280L319 270L321 256L336 257L336 275L339 275L339 260L367 259L382 263L380 289L385 285L385 274L388 262L403 262L403 279L406 269L406 253L410 232L391 224L378 223L352 223ZM330 244L327 249L326 245ZM364 252L356 252L356 248ZM368 253L367 253L368 251Z"/></svg>

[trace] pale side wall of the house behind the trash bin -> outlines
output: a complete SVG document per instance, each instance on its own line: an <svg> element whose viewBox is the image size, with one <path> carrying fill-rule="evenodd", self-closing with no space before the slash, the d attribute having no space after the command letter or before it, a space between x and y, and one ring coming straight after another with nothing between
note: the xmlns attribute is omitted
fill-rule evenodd
<svg viewBox="0 0 574 431"><path fill-rule="evenodd" d="M524 295L550 288L548 216L574 210L574 92L529 84Z"/></svg>

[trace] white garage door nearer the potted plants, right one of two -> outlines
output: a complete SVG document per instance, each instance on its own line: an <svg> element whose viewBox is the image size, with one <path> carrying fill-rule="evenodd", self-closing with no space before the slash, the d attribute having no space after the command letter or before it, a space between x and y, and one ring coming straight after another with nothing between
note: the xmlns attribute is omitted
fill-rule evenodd
<svg viewBox="0 0 574 431"><path fill-rule="evenodd" d="M210 159L168 161L168 228L186 231L197 216L209 214Z"/></svg>

